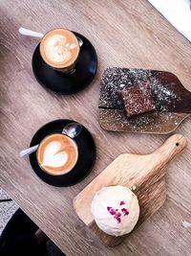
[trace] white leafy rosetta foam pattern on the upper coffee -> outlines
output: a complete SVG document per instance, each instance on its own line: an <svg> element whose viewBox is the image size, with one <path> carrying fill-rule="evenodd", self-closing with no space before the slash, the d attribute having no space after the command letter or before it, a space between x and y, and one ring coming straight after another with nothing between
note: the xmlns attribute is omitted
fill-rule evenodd
<svg viewBox="0 0 191 256"><path fill-rule="evenodd" d="M64 35L53 35L47 38L44 50L47 58L56 63L65 63L73 57L72 51L76 43L67 42Z"/></svg>

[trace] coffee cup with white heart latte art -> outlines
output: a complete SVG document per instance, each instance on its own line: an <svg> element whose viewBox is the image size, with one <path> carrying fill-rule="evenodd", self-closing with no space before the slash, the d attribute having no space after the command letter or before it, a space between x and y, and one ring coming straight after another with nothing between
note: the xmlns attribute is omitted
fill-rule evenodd
<svg viewBox="0 0 191 256"><path fill-rule="evenodd" d="M55 133L45 137L37 150L40 168L50 175L65 175L76 164L78 150L74 140L67 135Z"/></svg>

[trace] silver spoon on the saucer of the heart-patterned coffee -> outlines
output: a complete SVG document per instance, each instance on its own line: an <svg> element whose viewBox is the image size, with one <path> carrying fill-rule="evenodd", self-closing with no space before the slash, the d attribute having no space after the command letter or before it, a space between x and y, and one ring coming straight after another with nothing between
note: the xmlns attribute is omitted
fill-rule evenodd
<svg viewBox="0 0 191 256"><path fill-rule="evenodd" d="M63 128L62 134L65 134L65 135L69 136L70 138L74 139L76 136L79 135L79 133L81 132L81 129L82 129L82 126L80 124L70 123L70 124L66 125L66 127ZM28 148L26 150L20 151L19 156L23 157L23 156L31 154L33 151L37 151L38 146L39 146L39 144L32 146L31 148Z"/></svg>

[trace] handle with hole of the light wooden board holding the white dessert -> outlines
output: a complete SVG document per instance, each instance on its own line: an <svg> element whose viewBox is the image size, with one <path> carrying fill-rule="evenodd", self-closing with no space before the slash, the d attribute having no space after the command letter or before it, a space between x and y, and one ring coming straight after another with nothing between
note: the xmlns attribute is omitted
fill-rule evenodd
<svg viewBox="0 0 191 256"><path fill-rule="evenodd" d="M154 151L152 155L155 158L162 159L162 165L165 166L177 154L183 151L186 146L187 139L181 134L174 134L168 138L157 151Z"/></svg>

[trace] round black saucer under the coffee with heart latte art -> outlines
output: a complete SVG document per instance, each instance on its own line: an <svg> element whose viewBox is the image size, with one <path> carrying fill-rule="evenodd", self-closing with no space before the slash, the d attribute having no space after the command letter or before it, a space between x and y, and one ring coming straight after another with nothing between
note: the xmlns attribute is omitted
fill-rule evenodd
<svg viewBox="0 0 191 256"><path fill-rule="evenodd" d="M73 120L60 119L46 124L39 128L32 138L30 147L37 145L40 141L49 134L61 133L62 129ZM79 182L86 175L88 175L95 163L96 159L96 145L95 141L87 128L82 127L81 133L74 138L78 147L78 160L74 169L66 175L49 175L42 171L38 165L36 152L30 155L30 162L33 171L45 182L58 186L71 186Z"/></svg>

